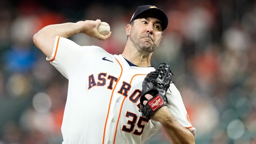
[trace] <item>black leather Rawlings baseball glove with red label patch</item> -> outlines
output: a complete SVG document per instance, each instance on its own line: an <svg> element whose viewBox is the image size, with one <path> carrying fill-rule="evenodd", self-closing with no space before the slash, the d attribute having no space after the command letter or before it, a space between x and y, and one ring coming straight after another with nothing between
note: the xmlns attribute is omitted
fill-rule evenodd
<svg viewBox="0 0 256 144"><path fill-rule="evenodd" d="M163 106L167 106L168 100L166 97L166 91L168 90L172 72L170 66L166 62L159 64L155 71L150 72L145 77L142 83L142 91L140 97L140 112L142 116L150 119L150 116ZM146 94L150 94L153 97L147 99ZM148 101L146 105L143 104L144 101Z"/></svg>

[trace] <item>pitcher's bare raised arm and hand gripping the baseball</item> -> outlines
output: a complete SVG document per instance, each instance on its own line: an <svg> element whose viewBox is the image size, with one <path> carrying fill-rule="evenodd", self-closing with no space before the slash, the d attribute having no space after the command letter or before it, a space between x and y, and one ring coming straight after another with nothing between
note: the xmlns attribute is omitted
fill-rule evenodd
<svg viewBox="0 0 256 144"><path fill-rule="evenodd" d="M33 41L35 45L47 56L51 57L54 41L56 36L69 38L78 33L84 33L90 37L105 40L110 37L111 32L107 35L102 35L98 32L98 26L101 20L86 20L78 21L76 23L63 23L48 25L39 30L34 36Z"/></svg>

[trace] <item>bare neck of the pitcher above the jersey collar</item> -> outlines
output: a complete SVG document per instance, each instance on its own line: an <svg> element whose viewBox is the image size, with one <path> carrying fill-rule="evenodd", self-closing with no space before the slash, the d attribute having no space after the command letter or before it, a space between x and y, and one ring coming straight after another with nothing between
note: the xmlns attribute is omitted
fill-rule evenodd
<svg viewBox="0 0 256 144"><path fill-rule="evenodd" d="M152 53L142 54L138 52L135 47L129 46L126 44L122 56L130 61L131 63L139 66L139 67L149 67L151 66L150 60Z"/></svg>

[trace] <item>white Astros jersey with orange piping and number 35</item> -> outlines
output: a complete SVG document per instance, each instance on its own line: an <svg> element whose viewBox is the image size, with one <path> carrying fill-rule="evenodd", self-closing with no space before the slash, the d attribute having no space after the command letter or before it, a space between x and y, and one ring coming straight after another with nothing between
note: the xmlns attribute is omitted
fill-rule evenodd
<svg viewBox="0 0 256 144"><path fill-rule="evenodd" d="M63 144L143 144L160 130L139 112L142 82L153 67L130 66L122 55L58 36L46 59L69 80ZM180 92L174 84L170 91L168 108L195 135Z"/></svg>

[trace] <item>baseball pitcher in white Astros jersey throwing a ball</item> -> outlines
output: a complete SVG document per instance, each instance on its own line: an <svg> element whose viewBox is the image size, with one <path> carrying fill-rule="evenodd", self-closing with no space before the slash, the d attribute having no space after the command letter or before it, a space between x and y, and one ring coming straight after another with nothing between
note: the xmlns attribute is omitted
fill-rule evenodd
<svg viewBox="0 0 256 144"><path fill-rule="evenodd" d="M67 39L84 33L106 40L111 32L100 34L100 24L86 20L49 25L33 37L69 80L63 144L143 144L162 126L170 143L195 143L196 129L171 83L169 65L161 63L156 70L150 64L168 25L166 14L156 6L138 7L126 26L128 39L120 55Z"/></svg>

